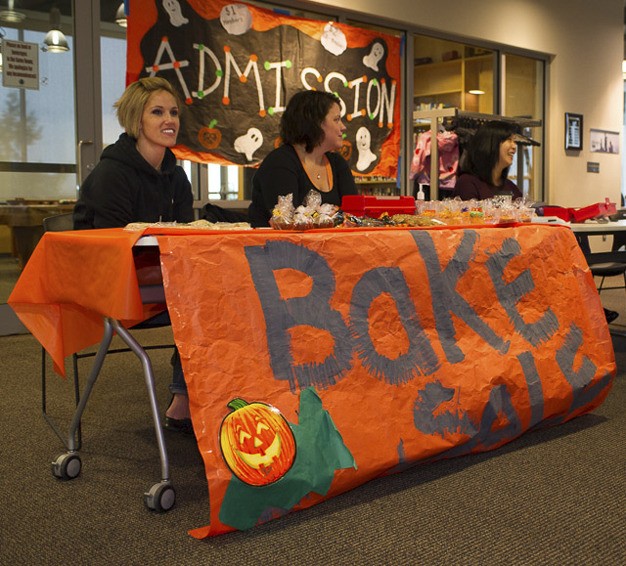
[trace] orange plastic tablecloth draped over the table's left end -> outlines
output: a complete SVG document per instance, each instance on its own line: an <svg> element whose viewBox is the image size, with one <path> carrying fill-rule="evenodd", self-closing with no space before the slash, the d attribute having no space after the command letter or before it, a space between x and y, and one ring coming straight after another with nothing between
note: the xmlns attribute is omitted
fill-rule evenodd
<svg viewBox="0 0 626 566"><path fill-rule="evenodd" d="M66 356L97 344L103 316L131 326L147 318L133 245L123 229L46 232L24 267L9 304L64 374Z"/></svg>

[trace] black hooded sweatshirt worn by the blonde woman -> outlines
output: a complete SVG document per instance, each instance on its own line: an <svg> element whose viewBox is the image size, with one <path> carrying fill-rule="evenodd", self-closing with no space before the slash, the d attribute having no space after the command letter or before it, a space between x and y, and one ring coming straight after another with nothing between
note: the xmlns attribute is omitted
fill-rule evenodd
<svg viewBox="0 0 626 566"><path fill-rule="evenodd" d="M118 228L131 222L192 222L191 184L176 157L165 150L161 171L122 134L104 149L85 179L74 207L74 229Z"/></svg>

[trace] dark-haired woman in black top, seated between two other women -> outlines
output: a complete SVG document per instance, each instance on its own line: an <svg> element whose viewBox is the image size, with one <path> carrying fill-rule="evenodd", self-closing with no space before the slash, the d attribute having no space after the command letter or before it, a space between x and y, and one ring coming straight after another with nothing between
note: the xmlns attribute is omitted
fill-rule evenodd
<svg viewBox="0 0 626 566"><path fill-rule="evenodd" d="M252 180L252 226L269 226L280 195L293 194L297 207L311 190L337 206L343 195L357 194L348 163L335 153L345 131L333 94L306 90L292 96L280 122L283 145L265 157Z"/></svg>

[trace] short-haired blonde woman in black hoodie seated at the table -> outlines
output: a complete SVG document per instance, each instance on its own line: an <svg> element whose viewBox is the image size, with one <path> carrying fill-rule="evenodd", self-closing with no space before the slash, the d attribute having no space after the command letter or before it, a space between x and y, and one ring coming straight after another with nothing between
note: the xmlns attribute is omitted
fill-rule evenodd
<svg viewBox="0 0 626 566"><path fill-rule="evenodd" d="M74 229L192 222L191 184L169 149L176 144L182 108L172 85L160 77L140 79L126 88L115 107L125 133L105 148L81 186ZM165 426L192 432L178 350L172 365L172 402L165 412Z"/></svg>

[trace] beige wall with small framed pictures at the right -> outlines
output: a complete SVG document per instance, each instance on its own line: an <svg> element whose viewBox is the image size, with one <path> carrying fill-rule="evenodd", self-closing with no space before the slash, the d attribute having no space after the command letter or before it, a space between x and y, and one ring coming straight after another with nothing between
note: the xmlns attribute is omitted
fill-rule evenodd
<svg viewBox="0 0 626 566"><path fill-rule="evenodd" d="M552 55L546 120L546 200L583 206L620 203L621 154L591 153L589 129L622 131L624 0L316 0L461 38ZM355 14L356 17L356 14ZM564 149L564 113L583 115L583 150ZM600 173L587 173L587 162Z"/></svg>

